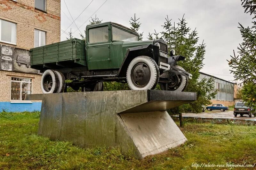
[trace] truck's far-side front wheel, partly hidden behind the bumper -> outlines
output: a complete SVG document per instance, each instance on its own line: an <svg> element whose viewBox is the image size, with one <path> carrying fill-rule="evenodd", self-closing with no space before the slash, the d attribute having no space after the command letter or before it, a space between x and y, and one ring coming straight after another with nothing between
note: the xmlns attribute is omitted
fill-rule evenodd
<svg viewBox="0 0 256 170"><path fill-rule="evenodd" d="M182 67L175 65L175 67L184 70ZM188 85L188 78L181 75L174 75L168 83L168 91L183 92ZM159 83L161 90L165 90L165 83Z"/></svg>

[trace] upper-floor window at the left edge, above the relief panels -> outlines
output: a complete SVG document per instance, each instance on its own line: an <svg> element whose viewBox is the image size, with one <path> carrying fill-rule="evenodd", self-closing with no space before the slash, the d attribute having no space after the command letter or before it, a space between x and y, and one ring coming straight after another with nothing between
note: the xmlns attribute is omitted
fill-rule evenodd
<svg viewBox="0 0 256 170"><path fill-rule="evenodd" d="M0 19L0 41L16 44L16 24Z"/></svg>

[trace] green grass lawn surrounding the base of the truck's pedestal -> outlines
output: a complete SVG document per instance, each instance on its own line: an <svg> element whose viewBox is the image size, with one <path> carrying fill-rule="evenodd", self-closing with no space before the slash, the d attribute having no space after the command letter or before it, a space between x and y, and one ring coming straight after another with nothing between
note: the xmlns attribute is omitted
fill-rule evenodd
<svg viewBox="0 0 256 170"><path fill-rule="evenodd" d="M0 169L195 169L192 163L256 163L256 126L185 123L181 130L188 142L138 160L114 148L83 149L38 136L39 116L0 113Z"/></svg>

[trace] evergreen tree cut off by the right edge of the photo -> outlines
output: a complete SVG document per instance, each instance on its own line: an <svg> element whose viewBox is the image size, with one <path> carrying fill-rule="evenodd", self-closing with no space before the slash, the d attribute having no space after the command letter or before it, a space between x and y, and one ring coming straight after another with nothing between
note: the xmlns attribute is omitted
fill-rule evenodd
<svg viewBox="0 0 256 170"><path fill-rule="evenodd" d="M240 23L243 42L237 47L238 55L233 50L233 56L228 61L231 73L236 80L243 82L242 99L248 107L256 108L256 0L241 0L244 12L253 15L252 27L244 27Z"/></svg>

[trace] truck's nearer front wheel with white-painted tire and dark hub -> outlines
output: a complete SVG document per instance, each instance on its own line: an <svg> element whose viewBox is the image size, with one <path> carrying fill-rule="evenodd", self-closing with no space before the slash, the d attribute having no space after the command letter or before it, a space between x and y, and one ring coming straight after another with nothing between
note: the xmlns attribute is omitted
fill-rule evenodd
<svg viewBox="0 0 256 170"><path fill-rule="evenodd" d="M148 56L138 56L129 64L126 80L131 90L151 90L159 81L159 68Z"/></svg>

